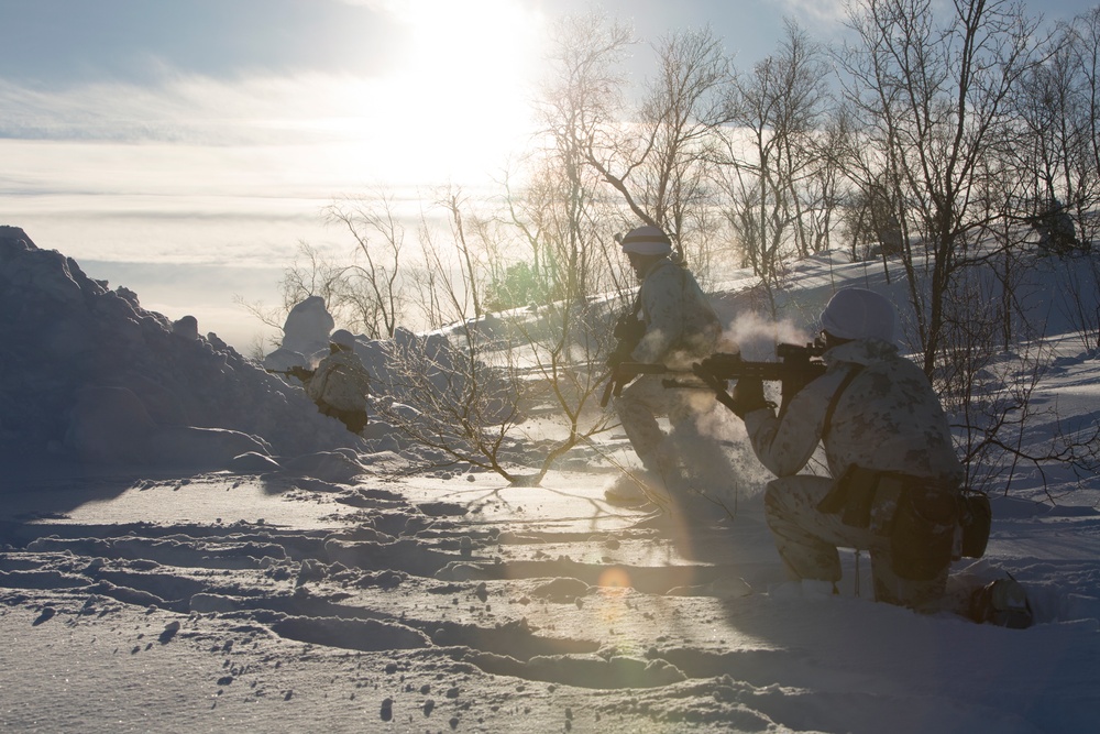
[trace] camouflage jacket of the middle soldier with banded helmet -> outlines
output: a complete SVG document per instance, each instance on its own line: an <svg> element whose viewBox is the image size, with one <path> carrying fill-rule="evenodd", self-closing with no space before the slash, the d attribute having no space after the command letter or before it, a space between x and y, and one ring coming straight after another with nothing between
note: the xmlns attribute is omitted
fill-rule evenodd
<svg viewBox="0 0 1100 734"><path fill-rule="evenodd" d="M714 352L722 325L686 267L659 260L646 273L638 297L646 333L631 360L686 365Z"/></svg>

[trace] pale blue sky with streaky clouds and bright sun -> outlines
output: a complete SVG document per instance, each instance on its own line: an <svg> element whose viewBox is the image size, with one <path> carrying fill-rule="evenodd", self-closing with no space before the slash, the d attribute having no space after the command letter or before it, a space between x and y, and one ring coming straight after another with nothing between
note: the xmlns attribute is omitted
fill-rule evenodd
<svg viewBox="0 0 1100 734"><path fill-rule="evenodd" d="M843 28L834 0L0 0L0 224L246 347L238 298L277 302L299 242L350 252L323 206L499 177L548 25L590 9L649 41L708 25L740 68L784 18Z"/></svg>

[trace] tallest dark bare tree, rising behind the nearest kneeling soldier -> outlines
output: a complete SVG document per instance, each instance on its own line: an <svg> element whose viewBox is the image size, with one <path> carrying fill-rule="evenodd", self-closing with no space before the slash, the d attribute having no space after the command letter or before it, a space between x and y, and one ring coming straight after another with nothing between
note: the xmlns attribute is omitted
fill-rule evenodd
<svg viewBox="0 0 1100 734"><path fill-rule="evenodd" d="M898 187L903 227L915 228L922 244L914 251L904 238L902 262L931 374L945 306L986 223L976 196L980 164L1007 136L1007 100L1036 61L1037 24L1000 1L955 0L939 23L928 0L866 0L850 7L849 26L856 41L837 61L861 143Z"/></svg>

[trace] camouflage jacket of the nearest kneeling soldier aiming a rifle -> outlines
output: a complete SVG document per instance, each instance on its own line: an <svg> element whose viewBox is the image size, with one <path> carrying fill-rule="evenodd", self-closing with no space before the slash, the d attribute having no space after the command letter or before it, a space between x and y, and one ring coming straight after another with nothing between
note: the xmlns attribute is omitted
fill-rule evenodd
<svg viewBox="0 0 1100 734"><path fill-rule="evenodd" d="M824 430L829 401L848 372L864 370L836 405L825 437L833 476L851 464L961 483L965 470L952 443L947 417L924 372L879 339L861 339L825 352L827 365L789 403L783 417L771 408L745 416L752 448L777 476L794 474L810 460Z"/></svg>

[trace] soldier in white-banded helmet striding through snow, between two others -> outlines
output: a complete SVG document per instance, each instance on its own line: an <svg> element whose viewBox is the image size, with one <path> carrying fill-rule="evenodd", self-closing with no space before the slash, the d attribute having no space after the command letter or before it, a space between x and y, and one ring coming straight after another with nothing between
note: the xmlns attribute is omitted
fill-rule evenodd
<svg viewBox="0 0 1100 734"><path fill-rule="evenodd" d="M634 313L625 315L616 327L616 336L635 331L635 338L620 338L620 349L608 359L608 365L613 370L623 362L688 368L716 351L722 336L718 317L691 272L671 259L669 237L657 227L638 227L620 240L620 245L641 287ZM704 470L711 478L728 481L733 470L722 447L698 430L700 416L713 406L713 395L667 390L657 374L644 374L631 382L615 398L614 407L646 472L619 476L605 497L638 503L650 499L649 491L663 489L680 492L679 499L684 500L682 492L689 481L682 468ZM669 435L659 427L658 416L668 417Z"/></svg>

